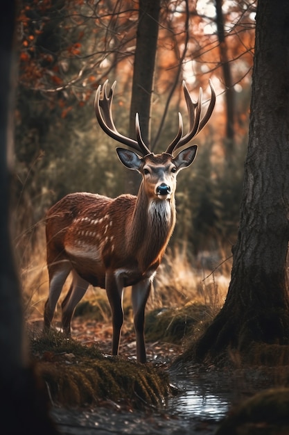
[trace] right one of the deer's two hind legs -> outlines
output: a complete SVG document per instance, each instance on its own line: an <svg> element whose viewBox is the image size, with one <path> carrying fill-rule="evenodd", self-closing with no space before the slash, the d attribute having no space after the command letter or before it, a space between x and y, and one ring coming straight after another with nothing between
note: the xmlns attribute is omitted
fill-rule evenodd
<svg viewBox="0 0 289 435"><path fill-rule="evenodd" d="M85 295L85 292L89 286L89 283L82 279L79 274L72 270L73 278L71 282L71 286L67 295L64 297L61 307L62 307L62 327L65 336L71 336L71 319L76 309L76 305L82 297Z"/></svg>

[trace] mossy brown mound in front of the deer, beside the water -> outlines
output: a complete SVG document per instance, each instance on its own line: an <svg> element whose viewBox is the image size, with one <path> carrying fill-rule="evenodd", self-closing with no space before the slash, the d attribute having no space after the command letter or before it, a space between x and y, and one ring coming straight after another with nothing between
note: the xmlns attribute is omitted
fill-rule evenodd
<svg viewBox="0 0 289 435"><path fill-rule="evenodd" d="M162 404L170 395L166 372L148 364L105 357L60 334L35 339L32 347L37 372L55 403L74 407L110 399L141 408Z"/></svg>

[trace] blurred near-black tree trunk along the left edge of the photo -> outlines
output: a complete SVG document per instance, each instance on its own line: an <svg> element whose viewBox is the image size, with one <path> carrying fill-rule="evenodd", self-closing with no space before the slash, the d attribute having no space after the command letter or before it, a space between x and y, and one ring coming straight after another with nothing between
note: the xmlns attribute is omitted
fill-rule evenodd
<svg viewBox="0 0 289 435"><path fill-rule="evenodd" d="M12 155L12 42L15 4L1 15L0 26L0 348L5 358L0 359L0 373L8 373L22 366L22 315L19 283L10 246L9 233L9 164ZM9 153L8 153L9 147ZM8 340L8 337L10 338ZM6 376L6 375L5 375Z"/></svg>

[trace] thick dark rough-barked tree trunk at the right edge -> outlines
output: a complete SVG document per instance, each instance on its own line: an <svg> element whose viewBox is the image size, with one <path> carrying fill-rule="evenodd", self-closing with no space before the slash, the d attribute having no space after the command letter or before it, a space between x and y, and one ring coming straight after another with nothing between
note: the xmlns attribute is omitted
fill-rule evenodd
<svg viewBox="0 0 289 435"><path fill-rule="evenodd" d="M225 305L198 340L211 359L254 342L288 344L289 1L259 0L240 229Z"/></svg>

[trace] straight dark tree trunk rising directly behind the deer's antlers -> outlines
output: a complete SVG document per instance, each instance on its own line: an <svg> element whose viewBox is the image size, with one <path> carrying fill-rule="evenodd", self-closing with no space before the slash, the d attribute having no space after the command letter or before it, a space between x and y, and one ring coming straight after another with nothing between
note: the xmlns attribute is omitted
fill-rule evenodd
<svg viewBox="0 0 289 435"><path fill-rule="evenodd" d="M160 0L139 0L129 136L135 138L135 114L139 113L141 136L146 145L150 144L150 104L159 34L159 10ZM139 190L138 174L136 171L130 171L128 177L127 190L135 194Z"/></svg>

